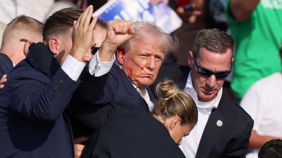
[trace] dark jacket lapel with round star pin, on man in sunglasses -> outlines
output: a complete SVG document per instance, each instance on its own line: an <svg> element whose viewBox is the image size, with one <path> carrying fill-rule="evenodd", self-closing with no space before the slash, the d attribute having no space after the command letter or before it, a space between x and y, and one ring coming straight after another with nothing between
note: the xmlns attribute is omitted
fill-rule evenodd
<svg viewBox="0 0 282 158"><path fill-rule="evenodd" d="M211 152L214 143L217 138L221 134L222 129L224 128L224 123L227 122L226 113L225 112L225 93L222 92L222 96L217 108L213 108L212 112L209 116L207 124L204 128L204 132L202 134L202 138L200 140L196 158L200 157L208 157ZM217 121L222 121L222 126L217 125Z"/></svg>

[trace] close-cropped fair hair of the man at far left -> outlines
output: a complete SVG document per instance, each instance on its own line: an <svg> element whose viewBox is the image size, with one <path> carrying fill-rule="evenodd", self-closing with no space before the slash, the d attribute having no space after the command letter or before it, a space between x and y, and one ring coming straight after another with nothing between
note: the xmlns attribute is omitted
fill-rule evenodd
<svg viewBox="0 0 282 158"><path fill-rule="evenodd" d="M42 29L43 23L41 23L40 21L25 15L17 16L6 26L3 33L2 45L4 45L6 42L5 37L10 36L13 32L19 36L23 35L21 36L21 38L26 38L27 40L32 39L24 37L26 35L33 35L34 37L38 36L41 37L42 40Z"/></svg>

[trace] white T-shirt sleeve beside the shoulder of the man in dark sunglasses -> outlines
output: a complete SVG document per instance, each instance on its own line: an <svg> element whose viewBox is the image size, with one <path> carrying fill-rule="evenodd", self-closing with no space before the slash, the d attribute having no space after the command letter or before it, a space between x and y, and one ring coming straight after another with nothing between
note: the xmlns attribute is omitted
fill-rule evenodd
<svg viewBox="0 0 282 158"><path fill-rule="evenodd" d="M254 119L253 130L255 131L259 131L264 111L263 97L259 94L262 90L259 87L261 86L258 83L252 85L240 102L241 107Z"/></svg>

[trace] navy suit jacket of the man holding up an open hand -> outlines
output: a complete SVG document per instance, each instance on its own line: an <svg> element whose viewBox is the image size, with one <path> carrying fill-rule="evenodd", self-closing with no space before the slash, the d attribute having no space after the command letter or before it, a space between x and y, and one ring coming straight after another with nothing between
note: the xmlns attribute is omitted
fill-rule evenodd
<svg viewBox="0 0 282 158"><path fill-rule="evenodd" d="M34 45L0 91L0 157L74 157L63 110L78 85L47 46Z"/></svg>

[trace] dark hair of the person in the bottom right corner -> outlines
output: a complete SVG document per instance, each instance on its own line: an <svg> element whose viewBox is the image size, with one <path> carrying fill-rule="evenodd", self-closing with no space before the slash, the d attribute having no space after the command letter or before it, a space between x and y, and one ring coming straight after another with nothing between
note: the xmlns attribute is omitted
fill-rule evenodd
<svg viewBox="0 0 282 158"><path fill-rule="evenodd" d="M282 158L282 140L273 139L263 144L259 150L259 158Z"/></svg>

